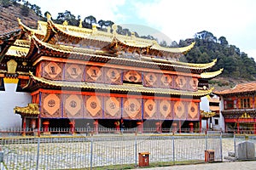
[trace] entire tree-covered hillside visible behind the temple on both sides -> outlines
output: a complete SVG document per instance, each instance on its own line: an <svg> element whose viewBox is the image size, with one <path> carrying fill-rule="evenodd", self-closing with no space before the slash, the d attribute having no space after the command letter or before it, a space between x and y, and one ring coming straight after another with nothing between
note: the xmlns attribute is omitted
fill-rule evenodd
<svg viewBox="0 0 256 170"><path fill-rule="evenodd" d="M40 7L25 0L0 0L0 7L0 31L17 26L17 17L21 18L26 26L35 27L36 21L46 20L46 14L49 13L45 12L43 15ZM68 25L72 26L79 26L79 23L82 22L83 27L87 28L91 28L95 24L102 31L107 31L107 27L113 25L112 20L96 20L93 15L82 19L80 16L74 16L68 10L58 13L58 16L52 20L59 24L67 20ZM118 26L117 32L122 35L131 35L129 29L122 28L121 26ZM138 35L137 32L135 32L135 36L157 40L151 35ZM246 53L241 52L235 45L229 44L225 37L214 37L209 31L198 32L192 39L181 40L178 43L172 42L171 45L168 45L166 41L162 41L160 45L183 47L189 45L191 42L195 42L195 47L181 58L182 61L189 63L208 63L212 59L218 59L217 65L212 68L212 71L224 68L224 72L220 77L229 80L224 82L226 85L229 85L230 79L243 81L256 80L256 63L253 58L249 58Z"/></svg>

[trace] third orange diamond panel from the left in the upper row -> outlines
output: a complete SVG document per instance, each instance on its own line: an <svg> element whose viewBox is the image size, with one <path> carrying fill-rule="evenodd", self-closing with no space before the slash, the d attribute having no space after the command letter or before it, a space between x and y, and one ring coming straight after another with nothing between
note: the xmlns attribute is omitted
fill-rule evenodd
<svg viewBox="0 0 256 170"><path fill-rule="evenodd" d="M85 68L85 82L103 82L101 67L87 65Z"/></svg>

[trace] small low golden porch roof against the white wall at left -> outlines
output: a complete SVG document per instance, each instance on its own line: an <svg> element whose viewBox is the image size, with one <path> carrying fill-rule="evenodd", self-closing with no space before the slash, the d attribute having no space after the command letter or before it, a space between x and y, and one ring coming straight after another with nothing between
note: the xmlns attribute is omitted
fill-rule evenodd
<svg viewBox="0 0 256 170"><path fill-rule="evenodd" d="M28 104L25 107L16 106L14 111L15 111L15 113L18 113L20 115L38 116L40 114L38 104Z"/></svg>

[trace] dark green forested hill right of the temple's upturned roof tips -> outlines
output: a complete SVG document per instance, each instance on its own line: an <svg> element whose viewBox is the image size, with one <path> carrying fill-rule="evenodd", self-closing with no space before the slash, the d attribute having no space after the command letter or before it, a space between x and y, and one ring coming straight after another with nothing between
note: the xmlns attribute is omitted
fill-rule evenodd
<svg viewBox="0 0 256 170"><path fill-rule="evenodd" d="M256 63L254 59L249 58L235 45L230 45L225 37L217 38L211 32L201 31L195 34L194 39L180 41L179 45L183 46L191 41L195 41L195 47L185 55L183 61L207 63L212 59L218 59L217 65L212 70L224 68L221 77L255 80Z"/></svg>

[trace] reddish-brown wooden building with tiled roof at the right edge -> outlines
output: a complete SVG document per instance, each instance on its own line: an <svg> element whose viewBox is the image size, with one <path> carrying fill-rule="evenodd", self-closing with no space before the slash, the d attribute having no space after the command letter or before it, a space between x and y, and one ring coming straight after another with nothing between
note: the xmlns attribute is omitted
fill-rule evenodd
<svg viewBox="0 0 256 170"><path fill-rule="evenodd" d="M214 92L220 96L225 132L256 133L256 82Z"/></svg>

